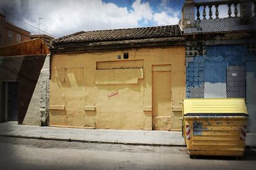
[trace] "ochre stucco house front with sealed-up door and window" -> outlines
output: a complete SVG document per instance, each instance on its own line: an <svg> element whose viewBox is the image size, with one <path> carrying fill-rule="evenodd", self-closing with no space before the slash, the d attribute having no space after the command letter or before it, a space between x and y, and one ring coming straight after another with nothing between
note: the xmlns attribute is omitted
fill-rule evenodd
<svg viewBox="0 0 256 170"><path fill-rule="evenodd" d="M129 52L129 59L123 59L124 52ZM121 55L121 59L117 59L117 55ZM166 94L170 95L170 105L161 110L166 113L157 117L156 129L181 129L180 102L185 97L186 88L184 47L54 54L51 60L49 124L151 130L154 65L157 65L154 67L157 73L168 73L163 78L171 76L168 81L171 94ZM157 77L156 84L165 86L161 85L160 78ZM161 100L160 95L157 102L166 105L166 99L168 97Z"/></svg>

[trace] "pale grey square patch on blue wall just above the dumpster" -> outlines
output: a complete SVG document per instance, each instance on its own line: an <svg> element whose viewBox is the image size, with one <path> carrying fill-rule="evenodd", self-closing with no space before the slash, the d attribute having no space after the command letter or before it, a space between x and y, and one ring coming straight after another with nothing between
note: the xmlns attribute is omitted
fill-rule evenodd
<svg viewBox="0 0 256 170"><path fill-rule="evenodd" d="M205 98L227 98L226 83L209 83L205 82Z"/></svg>

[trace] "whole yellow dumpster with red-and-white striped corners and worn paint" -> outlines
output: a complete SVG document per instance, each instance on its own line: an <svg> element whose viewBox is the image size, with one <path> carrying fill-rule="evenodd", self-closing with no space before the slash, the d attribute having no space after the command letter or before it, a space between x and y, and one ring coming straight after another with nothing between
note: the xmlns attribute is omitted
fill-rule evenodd
<svg viewBox="0 0 256 170"><path fill-rule="evenodd" d="M182 136L190 158L244 155L247 109L244 99L184 99Z"/></svg>

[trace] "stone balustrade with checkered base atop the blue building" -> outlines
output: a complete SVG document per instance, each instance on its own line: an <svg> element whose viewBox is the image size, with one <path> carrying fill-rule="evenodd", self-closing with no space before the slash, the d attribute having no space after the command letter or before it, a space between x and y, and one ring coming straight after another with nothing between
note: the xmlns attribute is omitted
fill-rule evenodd
<svg viewBox="0 0 256 170"><path fill-rule="evenodd" d="M186 0L184 34L256 29L256 0Z"/></svg>

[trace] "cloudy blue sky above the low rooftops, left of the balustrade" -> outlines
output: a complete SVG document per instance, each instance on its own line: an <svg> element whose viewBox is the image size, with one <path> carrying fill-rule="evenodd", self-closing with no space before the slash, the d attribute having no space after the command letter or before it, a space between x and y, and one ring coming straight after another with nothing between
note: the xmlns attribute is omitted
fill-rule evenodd
<svg viewBox="0 0 256 170"><path fill-rule="evenodd" d="M176 25L184 0L1 0L6 21L31 34ZM25 23L28 23L29 26ZM45 32L43 32L45 31Z"/></svg>

